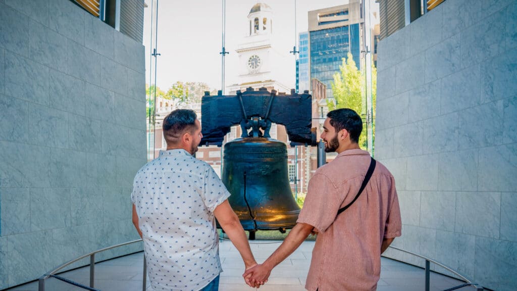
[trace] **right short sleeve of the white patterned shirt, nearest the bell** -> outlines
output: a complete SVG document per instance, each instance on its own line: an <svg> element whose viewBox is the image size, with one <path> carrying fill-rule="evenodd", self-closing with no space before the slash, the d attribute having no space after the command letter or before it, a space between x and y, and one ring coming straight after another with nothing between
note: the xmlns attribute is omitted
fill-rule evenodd
<svg viewBox="0 0 517 291"><path fill-rule="evenodd" d="M230 197L230 192L210 166L205 171L203 194L205 206L210 212L214 212L217 206Z"/></svg>

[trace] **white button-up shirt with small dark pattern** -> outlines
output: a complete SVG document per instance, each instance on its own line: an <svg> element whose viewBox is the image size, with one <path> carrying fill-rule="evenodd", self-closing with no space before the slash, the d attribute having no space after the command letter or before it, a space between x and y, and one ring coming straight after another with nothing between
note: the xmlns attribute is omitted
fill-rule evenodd
<svg viewBox="0 0 517 291"><path fill-rule="evenodd" d="M185 150L160 151L133 182L154 291L200 290L222 271L214 210L230 196L214 169Z"/></svg>

